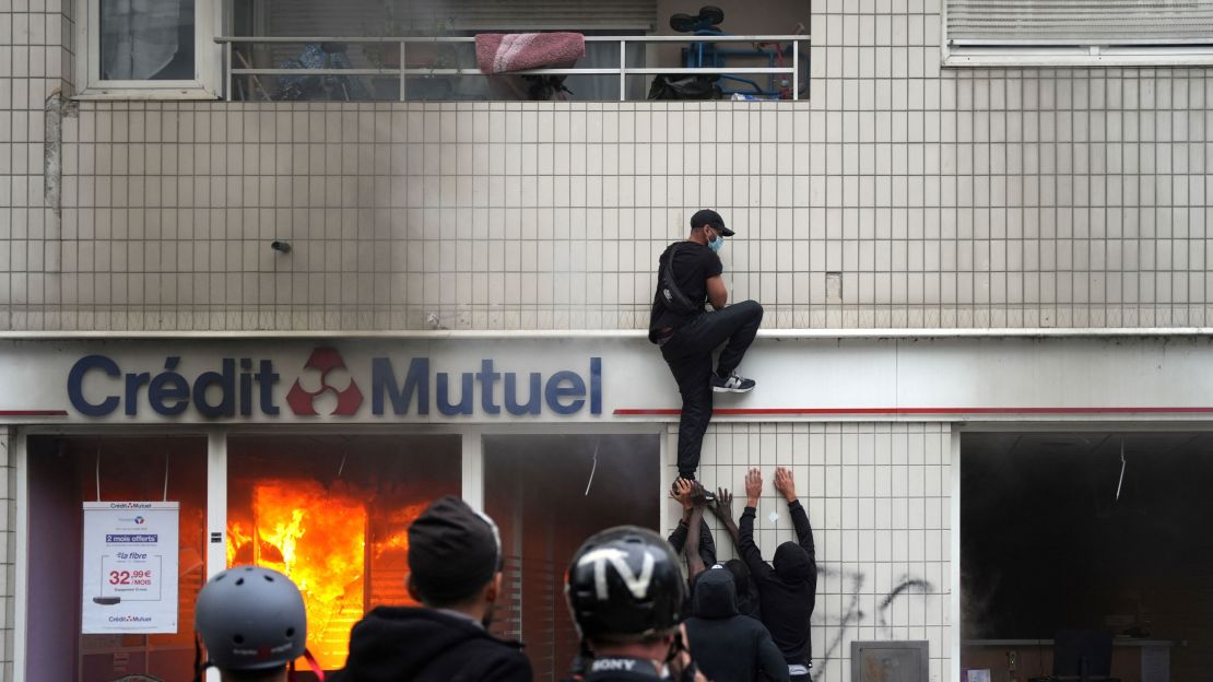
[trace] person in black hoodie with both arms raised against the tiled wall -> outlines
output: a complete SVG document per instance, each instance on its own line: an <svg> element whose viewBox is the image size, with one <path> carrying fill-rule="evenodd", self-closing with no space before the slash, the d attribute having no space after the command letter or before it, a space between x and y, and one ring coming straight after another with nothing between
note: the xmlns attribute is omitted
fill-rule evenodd
<svg viewBox="0 0 1213 682"><path fill-rule="evenodd" d="M751 578L758 585L763 625L782 652L792 682L807 682L813 667L809 619L818 602L816 547L809 516L796 499L792 472L784 467L775 470L775 490L787 500L797 541L784 542L775 550L774 568L763 561L762 551L754 544L754 515L758 496L762 495L762 473L751 468L746 473L746 510L741 512L738 545L750 567Z"/></svg>

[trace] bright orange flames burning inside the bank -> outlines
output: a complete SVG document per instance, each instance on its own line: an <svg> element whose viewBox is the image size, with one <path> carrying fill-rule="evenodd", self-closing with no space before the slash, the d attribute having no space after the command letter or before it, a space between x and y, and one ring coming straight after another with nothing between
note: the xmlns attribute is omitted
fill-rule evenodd
<svg viewBox="0 0 1213 682"><path fill-rule="evenodd" d="M372 598L411 603L403 590L406 529L426 505L377 511L372 538L382 539L368 555L368 498L343 482L326 488L315 481L263 479L252 489L251 518L235 518L241 510L230 510L228 519L228 566L256 563L295 581L307 610L308 649L325 670L344 665L349 629ZM388 582L375 595L368 590L368 562L378 581Z"/></svg>

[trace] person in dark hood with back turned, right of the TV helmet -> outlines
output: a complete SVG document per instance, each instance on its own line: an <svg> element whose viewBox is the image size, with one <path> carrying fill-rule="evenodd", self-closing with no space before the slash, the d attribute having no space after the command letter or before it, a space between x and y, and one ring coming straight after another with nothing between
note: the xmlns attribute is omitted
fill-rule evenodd
<svg viewBox="0 0 1213 682"><path fill-rule="evenodd" d="M717 566L699 575L687 619L690 655L708 680L757 682L759 672L773 682L787 681L787 664L770 632L738 613L733 574Z"/></svg>

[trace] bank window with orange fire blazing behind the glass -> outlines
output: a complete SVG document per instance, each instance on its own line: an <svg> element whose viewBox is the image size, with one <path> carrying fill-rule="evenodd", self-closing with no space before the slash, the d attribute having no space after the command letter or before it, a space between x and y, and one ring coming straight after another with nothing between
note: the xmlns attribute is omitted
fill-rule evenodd
<svg viewBox="0 0 1213 682"><path fill-rule="evenodd" d="M229 436L228 566L294 580L308 650L325 670L342 667L349 629L370 609L416 606L409 524L460 494L460 448L459 436Z"/></svg>

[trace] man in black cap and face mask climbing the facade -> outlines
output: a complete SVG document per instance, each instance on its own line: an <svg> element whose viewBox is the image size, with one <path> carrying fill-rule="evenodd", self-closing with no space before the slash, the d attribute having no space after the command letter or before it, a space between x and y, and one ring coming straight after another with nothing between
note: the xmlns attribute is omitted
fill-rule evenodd
<svg viewBox="0 0 1213 682"><path fill-rule="evenodd" d="M704 433L712 420L712 393L745 393L754 381L736 369L762 324L762 306L742 301L725 307L729 290L717 255L734 232L721 214L702 209L690 218L690 235L661 254L657 290L649 317L649 341L678 382L682 416L678 420L678 476L695 478ZM671 285L671 283L673 285ZM712 312L704 302L712 305ZM712 369L712 352L724 346Z"/></svg>

